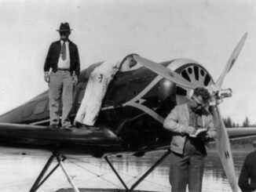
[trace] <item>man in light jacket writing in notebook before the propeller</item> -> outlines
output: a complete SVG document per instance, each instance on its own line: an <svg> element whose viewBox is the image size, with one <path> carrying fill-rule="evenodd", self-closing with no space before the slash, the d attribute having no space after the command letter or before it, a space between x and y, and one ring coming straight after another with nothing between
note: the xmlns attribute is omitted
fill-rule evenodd
<svg viewBox="0 0 256 192"><path fill-rule="evenodd" d="M204 158L207 155L205 141L216 136L213 118L209 109L210 93L207 89L196 88L192 100L174 107L163 123L172 132L170 144L170 185L171 190L201 191ZM192 136L196 130L205 132Z"/></svg>

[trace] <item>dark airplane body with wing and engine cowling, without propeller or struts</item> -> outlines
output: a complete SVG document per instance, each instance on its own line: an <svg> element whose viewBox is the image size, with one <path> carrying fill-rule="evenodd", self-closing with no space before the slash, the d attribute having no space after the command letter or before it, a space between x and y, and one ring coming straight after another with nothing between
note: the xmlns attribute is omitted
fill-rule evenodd
<svg viewBox="0 0 256 192"><path fill-rule="evenodd" d="M72 120L79 109L90 73L100 64L91 65L79 75L71 110ZM212 81L210 74L192 60L179 59L161 64L173 68L185 78L191 76L199 85L206 86ZM163 119L185 96L185 89L146 67L119 71L104 97L96 123L100 131L49 129L49 96L46 91L0 117L2 123L7 123L0 125L0 145L61 150L65 154L92 154L97 157L106 153L126 151L138 154L157 150L170 145L171 135L163 129Z"/></svg>

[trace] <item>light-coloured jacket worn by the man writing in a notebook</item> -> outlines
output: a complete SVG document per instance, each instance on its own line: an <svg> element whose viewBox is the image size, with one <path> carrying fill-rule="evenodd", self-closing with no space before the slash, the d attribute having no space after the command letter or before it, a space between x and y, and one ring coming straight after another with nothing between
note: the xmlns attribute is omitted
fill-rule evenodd
<svg viewBox="0 0 256 192"><path fill-rule="evenodd" d="M202 115L203 128L207 128L207 134L210 138L214 138L217 134L214 128L214 122L211 115ZM172 141L170 143L170 150L177 154L183 154L185 141L187 136L184 134L187 132L189 126L189 110L188 103L178 105L167 115L163 122L165 129L173 132Z"/></svg>

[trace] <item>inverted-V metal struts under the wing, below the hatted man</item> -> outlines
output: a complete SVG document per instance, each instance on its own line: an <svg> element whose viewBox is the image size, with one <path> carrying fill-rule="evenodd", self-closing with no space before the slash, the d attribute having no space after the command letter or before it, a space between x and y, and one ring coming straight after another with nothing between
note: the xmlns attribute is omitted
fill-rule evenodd
<svg viewBox="0 0 256 192"><path fill-rule="evenodd" d="M56 158L58 161L58 164L49 172L49 174L44 178L43 176L46 174L47 169L49 168L49 166L53 163L53 158ZM36 190L38 190L39 187L42 186L43 183L45 183L46 179L49 178L49 176L51 176L53 174L53 172L60 166L65 174L65 176L68 178L68 182L71 184L71 187L73 188L73 190L75 192L79 192L79 189L75 186L75 183L73 182L73 180L71 179L70 176L68 176L68 172L66 171L66 169L64 168L64 164L63 162L66 160L66 157L64 157L62 154L58 153L58 152L53 152L53 154L49 157L48 161L46 162L46 165L44 166L44 168L42 168L42 172L40 172L38 178L35 180L35 183L33 184L33 186L31 187L31 190L29 190L29 192L35 192ZM41 181L42 180L42 181Z"/></svg>

